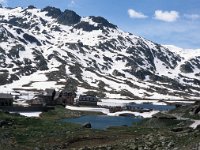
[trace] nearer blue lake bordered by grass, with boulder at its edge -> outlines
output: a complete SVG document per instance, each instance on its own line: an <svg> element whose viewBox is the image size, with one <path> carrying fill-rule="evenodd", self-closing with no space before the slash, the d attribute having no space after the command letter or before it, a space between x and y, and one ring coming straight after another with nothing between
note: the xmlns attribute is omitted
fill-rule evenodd
<svg viewBox="0 0 200 150"><path fill-rule="evenodd" d="M106 115L86 115L79 118L64 119L63 122L77 124L91 123L93 129L106 129L112 126L131 126L134 122L141 121L141 118L106 116Z"/></svg>

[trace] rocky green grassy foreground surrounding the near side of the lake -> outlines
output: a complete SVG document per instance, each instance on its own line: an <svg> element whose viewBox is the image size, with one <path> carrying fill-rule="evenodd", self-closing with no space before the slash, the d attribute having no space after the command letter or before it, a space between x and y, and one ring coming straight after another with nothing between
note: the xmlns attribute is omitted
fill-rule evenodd
<svg viewBox="0 0 200 150"><path fill-rule="evenodd" d="M193 120L200 120L200 103L158 113L131 127L93 130L60 121L86 114L62 107L42 113L39 118L1 112L0 149L198 150L200 147L200 125L191 127Z"/></svg>

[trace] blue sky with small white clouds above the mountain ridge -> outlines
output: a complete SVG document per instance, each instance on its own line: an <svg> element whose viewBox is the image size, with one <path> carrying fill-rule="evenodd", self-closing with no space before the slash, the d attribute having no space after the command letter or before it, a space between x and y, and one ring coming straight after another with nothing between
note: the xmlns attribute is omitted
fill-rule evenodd
<svg viewBox="0 0 200 150"><path fill-rule="evenodd" d="M200 0L0 0L7 7L54 6L102 16L120 29L159 44L200 48Z"/></svg>

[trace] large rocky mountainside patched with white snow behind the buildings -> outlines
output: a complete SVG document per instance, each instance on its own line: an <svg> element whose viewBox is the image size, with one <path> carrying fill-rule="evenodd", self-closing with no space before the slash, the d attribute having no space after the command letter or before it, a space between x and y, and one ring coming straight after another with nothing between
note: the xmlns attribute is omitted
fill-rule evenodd
<svg viewBox="0 0 200 150"><path fill-rule="evenodd" d="M106 97L198 98L200 53L187 55L102 17L0 8L0 90L76 88Z"/></svg>

